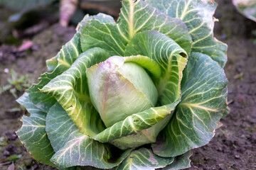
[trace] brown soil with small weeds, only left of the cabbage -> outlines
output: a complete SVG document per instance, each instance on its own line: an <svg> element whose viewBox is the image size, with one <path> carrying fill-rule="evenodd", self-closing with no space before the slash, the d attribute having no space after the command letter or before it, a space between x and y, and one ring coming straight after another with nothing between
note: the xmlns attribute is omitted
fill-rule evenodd
<svg viewBox="0 0 256 170"><path fill-rule="evenodd" d="M26 52L16 52L14 45L1 45L0 52L0 86L7 83L9 74L4 73L4 69L14 69L19 75L28 74L32 82L36 82L40 74L46 72L46 59L53 57L75 34L75 28L63 28L58 24L51 26L42 33L34 36L33 46ZM21 96L23 91L18 93ZM8 169L14 163L15 169L53 169L50 166L44 166L36 162L16 136L16 130L21 127L21 116L25 111L11 112L10 108L18 108L16 98L9 92L0 96L0 164L7 162L9 164L0 165L0 169ZM21 158L15 162L8 161L11 155L21 155Z"/></svg>

